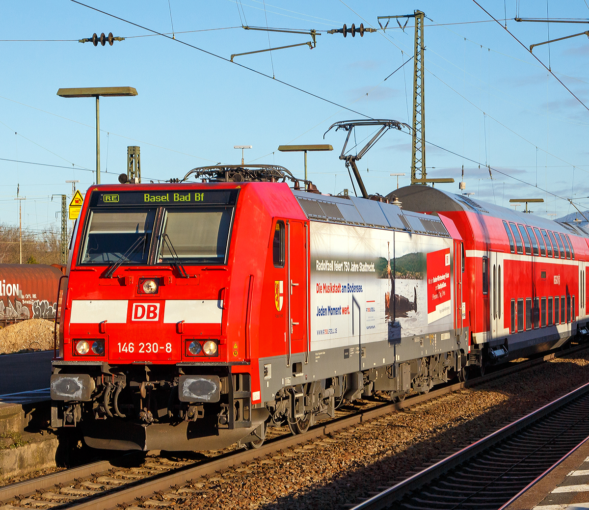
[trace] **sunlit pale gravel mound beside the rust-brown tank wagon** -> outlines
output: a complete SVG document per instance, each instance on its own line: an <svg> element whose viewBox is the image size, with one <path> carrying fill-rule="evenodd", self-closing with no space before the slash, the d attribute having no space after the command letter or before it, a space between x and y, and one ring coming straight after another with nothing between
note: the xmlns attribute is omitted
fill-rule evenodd
<svg viewBox="0 0 589 510"><path fill-rule="evenodd" d="M53 328L53 321L46 319L28 319L3 327L0 354L53 349Z"/></svg>

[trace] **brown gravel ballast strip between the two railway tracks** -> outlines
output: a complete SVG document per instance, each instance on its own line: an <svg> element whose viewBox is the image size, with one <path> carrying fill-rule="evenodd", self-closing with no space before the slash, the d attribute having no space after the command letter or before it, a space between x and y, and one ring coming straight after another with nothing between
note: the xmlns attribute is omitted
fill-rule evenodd
<svg viewBox="0 0 589 510"><path fill-rule="evenodd" d="M249 465L211 473L187 485L194 492L186 499L166 506L343 509L587 380L589 355L554 359Z"/></svg>

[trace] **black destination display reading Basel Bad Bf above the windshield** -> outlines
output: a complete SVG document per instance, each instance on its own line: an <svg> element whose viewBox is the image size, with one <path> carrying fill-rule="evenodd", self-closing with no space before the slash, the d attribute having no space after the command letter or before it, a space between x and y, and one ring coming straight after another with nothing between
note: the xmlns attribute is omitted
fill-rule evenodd
<svg viewBox="0 0 589 510"><path fill-rule="evenodd" d="M233 206L238 190L94 191L91 206Z"/></svg>

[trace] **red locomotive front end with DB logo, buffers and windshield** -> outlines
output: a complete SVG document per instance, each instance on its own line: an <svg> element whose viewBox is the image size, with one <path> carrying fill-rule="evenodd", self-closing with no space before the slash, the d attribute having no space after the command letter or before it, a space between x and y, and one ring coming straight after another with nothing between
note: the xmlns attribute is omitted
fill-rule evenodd
<svg viewBox="0 0 589 510"><path fill-rule="evenodd" d="M52 426L81 426L94 448L194 450L230 445L266 419L251 409L244 343L227 335L238 196L223 185L88 191L68 263Z"/></svg>

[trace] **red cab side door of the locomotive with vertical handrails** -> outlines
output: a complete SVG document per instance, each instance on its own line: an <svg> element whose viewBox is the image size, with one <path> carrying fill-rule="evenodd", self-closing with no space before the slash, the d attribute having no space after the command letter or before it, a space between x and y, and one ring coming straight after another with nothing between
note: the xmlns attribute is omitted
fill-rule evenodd
<svg viewBox="0 0 589 510"><path fill-rule="evenodd" d="M286 365L292 362L295 353L305 353L304 362L309 361L307 337L307 310L309 309L307 282L309 264L307 261L308 226L302 221L286 222L286 264L288 317L286 328ZM289 327L290 325L290 327ZM300 356L294 362L299 362Z"/></svg>

